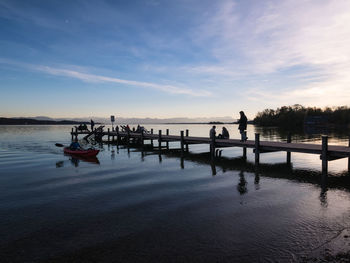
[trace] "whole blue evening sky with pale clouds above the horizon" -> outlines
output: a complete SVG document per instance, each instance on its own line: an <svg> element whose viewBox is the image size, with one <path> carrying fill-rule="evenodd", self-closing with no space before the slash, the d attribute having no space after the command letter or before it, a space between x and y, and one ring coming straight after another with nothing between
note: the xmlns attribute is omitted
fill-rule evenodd
<svg viewBox="0 0 350 263"><path fill-rule="evenodd" d="M0 0L0 116L349 106L349 0Z"/></svg>

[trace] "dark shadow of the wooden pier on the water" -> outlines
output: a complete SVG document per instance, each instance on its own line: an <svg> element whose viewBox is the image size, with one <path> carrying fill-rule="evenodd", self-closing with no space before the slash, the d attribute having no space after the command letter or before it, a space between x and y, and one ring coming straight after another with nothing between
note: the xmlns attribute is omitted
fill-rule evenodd
<svg viewBox="0 0 350 263"><path fill-rule="evenodd" d="M312 170L312 169L296 169L293 168L293 163L259 163L255 164L254 162L248 161L244 157L228 158L228 157L216 157L211 159L209 152L205 153L192 153L185 152L181 153L180 149L166 149L162 148L159 151L159 148L152 148L149 145L140 147L138 145L121 145L118 147L124 147L130 151L139 152L141 155L141 160L147 155L158 155L159 162L162 162L162 155L168 158L177 158L179 159L179 165L181 169L185 169L185 161L190 161L198 164L208 165L211 169L213 176L217 175L217 169L220 169L222 173L227 171L238 171L240 174L240 183L238 190L240 193L244 194L244 173L253 173L256 176L256 183L258 184L259 178L279 178L279 179L288 179L295 182L310 183L318 185L321 188L321 191L325 193L328 188L332 189L341 189L350 191L350 174L348 172L342 173L332 173L329 172L328 176L325 178L322 176L321 171Z"/></svg>

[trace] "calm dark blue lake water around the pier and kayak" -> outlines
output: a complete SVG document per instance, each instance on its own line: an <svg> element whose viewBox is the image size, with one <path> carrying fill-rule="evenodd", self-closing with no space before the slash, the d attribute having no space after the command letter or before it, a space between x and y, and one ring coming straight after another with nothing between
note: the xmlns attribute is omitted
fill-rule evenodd
<svg viewBox="0 0 350 263"><path fill-rule="evenodd" d="M198 136L210 129L152 127ZM104 145L86 162L54 145L69 143L70 129L0 126L1 262L300 262L350 250L346 159L330 162L335 187L325 189L316 155L292 154L291 168L285 153L267 153L258 169L249 149L248 163L233 148L214 165L207 145L190 146L184 160ZM253 126L248 137L257 131L285 139ZM331 134L330 143L348 142Z"/></svg>

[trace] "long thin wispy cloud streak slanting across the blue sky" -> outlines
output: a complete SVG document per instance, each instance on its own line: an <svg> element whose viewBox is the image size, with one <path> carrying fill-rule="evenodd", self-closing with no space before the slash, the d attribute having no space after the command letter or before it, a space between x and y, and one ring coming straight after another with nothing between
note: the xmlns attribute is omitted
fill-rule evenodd
<svg viewBox="0 0 350 263"><path fill-rule="evenodd" d="M212 95L211 92L206 90L192 90L188 88L181 88L181 87L167 85L167 84L163 85L163 84L157 84L157 83L151 83L151 82L125 80L125 79L120 79L115 77L107 77L102 75L84 73L84 72L71 70L71 69L56 68L56 67L49 67L49 66L43 66L43 65L33 65L33 64L11 61L7 59L1 59L1 58L0 58L0 63L22 67L22 68L24 67L30 70L40 71L50 75L79 79L84 82L116 83L116 84L129 85L133 87L142 87L142 88L160 90L170 94L180 94L180 95L182 94L182 95L189 95L194 97L208 97Z"/></svg>

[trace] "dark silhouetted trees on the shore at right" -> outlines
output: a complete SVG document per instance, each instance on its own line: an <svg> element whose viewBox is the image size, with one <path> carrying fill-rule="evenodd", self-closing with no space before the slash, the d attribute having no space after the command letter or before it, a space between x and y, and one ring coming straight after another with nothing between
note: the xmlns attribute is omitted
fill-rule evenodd
<svg viewBox="0 0 350 263"><path fill-rule="evenodd" d="M304 107L300 104L283 106L281 108L265 109L258 112L254 123L260 126L277 126L285 128L300 128L304 125L350 125L350 108L339 107Z"/></svg>

